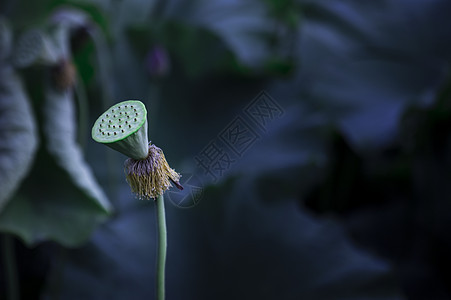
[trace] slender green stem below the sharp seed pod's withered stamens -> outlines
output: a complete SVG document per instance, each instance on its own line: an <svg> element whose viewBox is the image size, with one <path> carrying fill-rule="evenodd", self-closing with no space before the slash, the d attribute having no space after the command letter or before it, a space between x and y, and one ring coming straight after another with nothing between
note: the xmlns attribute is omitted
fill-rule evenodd
<svg viewBox="0 0 451 300"><path fill-rule="evenodd" d="M166 267L167 251L167 230L166 214L164 209L163 195L158 196L157 200L157 222L158 222L158 258L157 258L157 299L164 300L164 273Z"/></svg>

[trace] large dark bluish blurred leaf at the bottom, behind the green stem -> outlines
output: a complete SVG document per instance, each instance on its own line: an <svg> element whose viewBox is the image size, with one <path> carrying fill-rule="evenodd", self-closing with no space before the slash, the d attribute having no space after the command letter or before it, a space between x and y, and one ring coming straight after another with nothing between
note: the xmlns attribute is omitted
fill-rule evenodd
<svg viewBox="0 0 451 300"><path fill-rule="evenodd" d="M240 184L213 188L194 209L168 205L168 298L402 299L388 264L355 248L337 223L312 218L293 201L262 206ZM152 298L153 207L124 212L74 251L60 297ZM111 282L121 284L112 289Z"/></svg>

